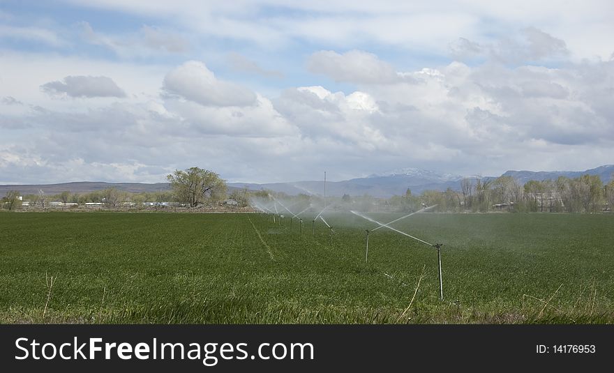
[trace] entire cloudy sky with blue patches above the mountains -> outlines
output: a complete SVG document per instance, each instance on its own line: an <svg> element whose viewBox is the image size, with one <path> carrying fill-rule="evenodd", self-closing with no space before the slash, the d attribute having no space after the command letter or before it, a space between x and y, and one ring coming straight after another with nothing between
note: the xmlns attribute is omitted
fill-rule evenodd
<svg viewBox="0 0 614 373"><path fill-rule="evenodd" d="M0 183L614 163L614 2L0 1Z"/></svg>

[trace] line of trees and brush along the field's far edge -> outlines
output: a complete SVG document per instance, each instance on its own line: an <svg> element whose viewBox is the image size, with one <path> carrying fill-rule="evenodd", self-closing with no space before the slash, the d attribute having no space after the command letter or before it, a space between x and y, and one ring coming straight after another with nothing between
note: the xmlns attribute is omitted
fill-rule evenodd
<svg viewBox="0 0 614 373"><path fill-rule="evenodd" d="M36 195L22 196L31 206L47 208L52 201L63 205L87 203L100 204L107 208L122 206L142 206L153 204L173 204L186 208L217 206L224 199L236 201L236 206L250 205L250 199L269 198L273 194L283 199L304 199L308 204L313 198L309 195L288 196L269 190L252 191L246 188L227 193L225 181L215 172L199 167L176 170L167 176L170 190L159 192L126 192L117 188L107 188L87 193L61 192L45 195L41 190ZM10 190L2 199L1 206L14 210L22 206L17 190ZM567 212L599 213L610 211L614 206L614 177L604 184L597 175L583 175L578 178L560 176L556 180L527 181L524 185L511 176L498 178L463 178L459 190L448 188L445 191L425 190L419 195L407 189L403 195L380 199L368 195L340 198L329 197L339 206L352 205L362 211L386 210L398 212L417 211L425 206L437 205L434 211L447 212Z"/></svg>

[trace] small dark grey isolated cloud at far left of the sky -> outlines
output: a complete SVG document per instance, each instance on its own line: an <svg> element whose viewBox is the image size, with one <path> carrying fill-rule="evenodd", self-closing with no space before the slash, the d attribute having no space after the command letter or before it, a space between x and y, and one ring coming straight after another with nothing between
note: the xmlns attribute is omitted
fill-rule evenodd
<svg viewBox="0 0 614 373"><path fill-rule="evenodd" d="M43 84L40 89L51 96L73 98L126 97L126 93L110 77L69 75L62 81Z"/></svg>

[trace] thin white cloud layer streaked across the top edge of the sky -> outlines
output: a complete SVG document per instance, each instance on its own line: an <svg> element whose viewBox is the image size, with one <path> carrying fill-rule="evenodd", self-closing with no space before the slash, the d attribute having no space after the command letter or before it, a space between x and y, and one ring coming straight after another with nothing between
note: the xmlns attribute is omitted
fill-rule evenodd
<svg viewBox="0 0 614 373"><path fill-rule="evenodd" d="M537 25L566 40L574 61L608 59L613 52L614 3L608 0L66 1L174 22L204 37L247 40L266 48L299 39L329 48L364 48L377 43L442 54L459 37L492 43L510 29ZM276 13L280 8L290 15Z"/></svg>

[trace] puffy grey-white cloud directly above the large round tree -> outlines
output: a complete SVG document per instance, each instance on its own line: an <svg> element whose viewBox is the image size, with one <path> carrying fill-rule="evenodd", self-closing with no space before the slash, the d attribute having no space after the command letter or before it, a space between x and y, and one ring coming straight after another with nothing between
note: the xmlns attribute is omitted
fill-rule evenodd
<svg viewBox="0 0 614 373"><path fill-rule="evenodd" d="M250 89L218 79L199 61L188 61L164 78L167 93L206 106L248 106L256 103Z"/></svg>

